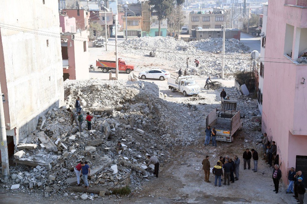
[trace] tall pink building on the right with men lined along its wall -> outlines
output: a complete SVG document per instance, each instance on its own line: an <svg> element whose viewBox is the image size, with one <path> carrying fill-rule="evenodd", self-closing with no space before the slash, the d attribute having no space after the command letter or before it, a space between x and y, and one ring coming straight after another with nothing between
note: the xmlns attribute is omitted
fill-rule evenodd
<svg viewBox="0 0 307 204"><path fill-rule="evenodd" d="M301 57L307 52L306 19L306 1L269 1L262 131L276 142L285 184L291 167L307 178L307 63Z"/></svg>

